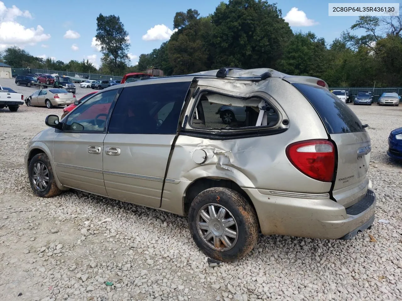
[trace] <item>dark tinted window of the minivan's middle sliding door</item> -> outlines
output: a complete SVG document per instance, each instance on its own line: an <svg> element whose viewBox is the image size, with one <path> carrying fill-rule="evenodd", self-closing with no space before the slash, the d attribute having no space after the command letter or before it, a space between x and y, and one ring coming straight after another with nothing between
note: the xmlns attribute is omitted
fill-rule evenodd
<svg viewBox="0 0 402 301"><path fill-rule="evenodd" d="M176 134L190 82L126 87L110 120L111 134Z"/></svg>

